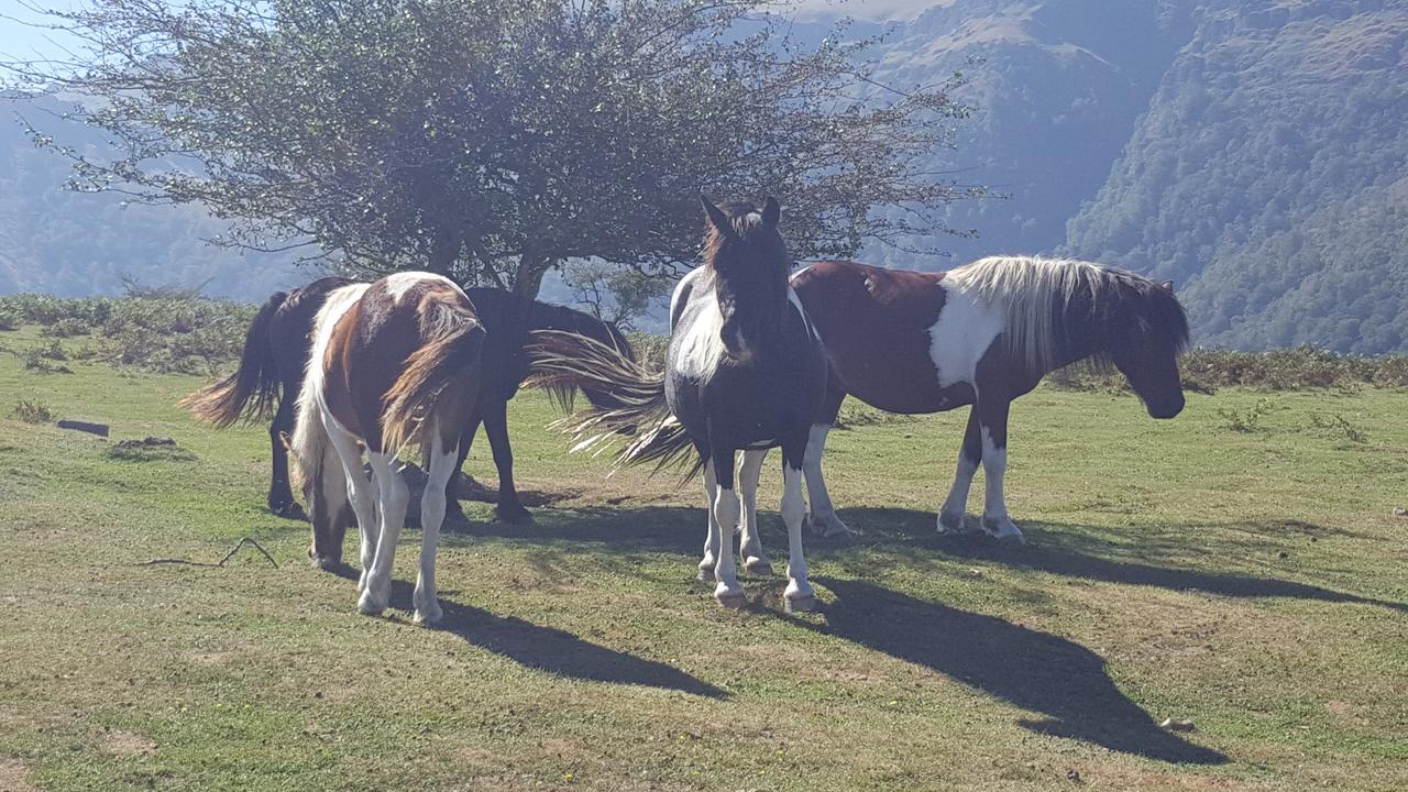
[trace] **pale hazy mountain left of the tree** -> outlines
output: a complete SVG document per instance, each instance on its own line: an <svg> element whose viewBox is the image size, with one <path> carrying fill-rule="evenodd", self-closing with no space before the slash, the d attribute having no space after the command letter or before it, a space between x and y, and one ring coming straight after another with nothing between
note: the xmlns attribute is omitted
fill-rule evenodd
<svg viewBox="0 0 1408 792"><path fill-rule="evenodd" d="M263 300L311 271L293 256L241 255L204 242L225 227L197 207L128 204L117 194L63 189L69 163L37 151L20 118L63 145L101 156L94 130L62 118L72 103L52 96L0 97L0 295L118 295L122 278L146 286L199 286Z"/></svg>

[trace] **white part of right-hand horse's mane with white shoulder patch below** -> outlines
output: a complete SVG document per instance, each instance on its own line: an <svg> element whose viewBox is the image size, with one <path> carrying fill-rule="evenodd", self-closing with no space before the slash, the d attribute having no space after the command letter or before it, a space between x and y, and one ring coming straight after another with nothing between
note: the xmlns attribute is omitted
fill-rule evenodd
<svg viewBox="0 0 1408 792"><path fill-rule="evenodd" d="M1087 261L988 256L950 269L943 283L1002 311L1008 352L1031 371L1046 372L1062 362L1056 306L1081 290L1095 303L1114 283L1105 273L1104 266Z"/></svg>

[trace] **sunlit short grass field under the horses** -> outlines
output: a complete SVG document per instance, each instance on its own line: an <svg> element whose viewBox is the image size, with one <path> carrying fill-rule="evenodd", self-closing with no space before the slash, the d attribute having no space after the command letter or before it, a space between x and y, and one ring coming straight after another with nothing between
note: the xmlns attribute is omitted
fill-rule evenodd
<svg viewBox="0 0 1408 792"><path fill-rule="evenodd" d="M0 791L1408 788L1404 390L1225 389L1160 423L1043 388L1012 416L1022 548L934 534L963 414L850 410L828 474L856 538L808 548L803 616L781 578L717 606L700 486L608 478L525 393L536 524L466 503L425 630L418 533L389 616L359 616L263 512L263 428L176 409L201 378L38 373L51 340L0 344ZM114 451L146 435L177 445ZM244 537L277 567L146 564Z"/></svg>

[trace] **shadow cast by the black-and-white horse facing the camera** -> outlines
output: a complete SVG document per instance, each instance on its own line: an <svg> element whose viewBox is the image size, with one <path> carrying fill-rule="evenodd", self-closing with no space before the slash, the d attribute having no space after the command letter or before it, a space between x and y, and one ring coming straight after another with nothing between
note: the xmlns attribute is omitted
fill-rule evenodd
<svg viewBox="0 0 1408 792"><path fill-rule="evenodd" d="M814 582L836 602L826 605L825 624L794 623L924 665L1045 716L1019 720L1025 729L1167 762L1228 761L1160 729L1119 692L1105 661L1080 644L862 581Z"/></svg>

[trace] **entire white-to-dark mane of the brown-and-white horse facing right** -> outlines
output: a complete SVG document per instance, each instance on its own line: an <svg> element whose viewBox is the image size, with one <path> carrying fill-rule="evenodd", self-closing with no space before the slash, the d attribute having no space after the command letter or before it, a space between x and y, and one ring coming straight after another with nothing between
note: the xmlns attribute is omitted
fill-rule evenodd
<svg viewBox="0 0 1408 792"><path fill-rule="evenodd" d="M1177 299L1133 272L1088 261L988 256L950 269L943 282L998 306L1005 316L1008 354L1033 372L1067 362L1066 320L1073 310L1087 310L1091 320L1104 324L1115 309L1132 306L1176 352L1188 345L1188 320Z"/></svg>

